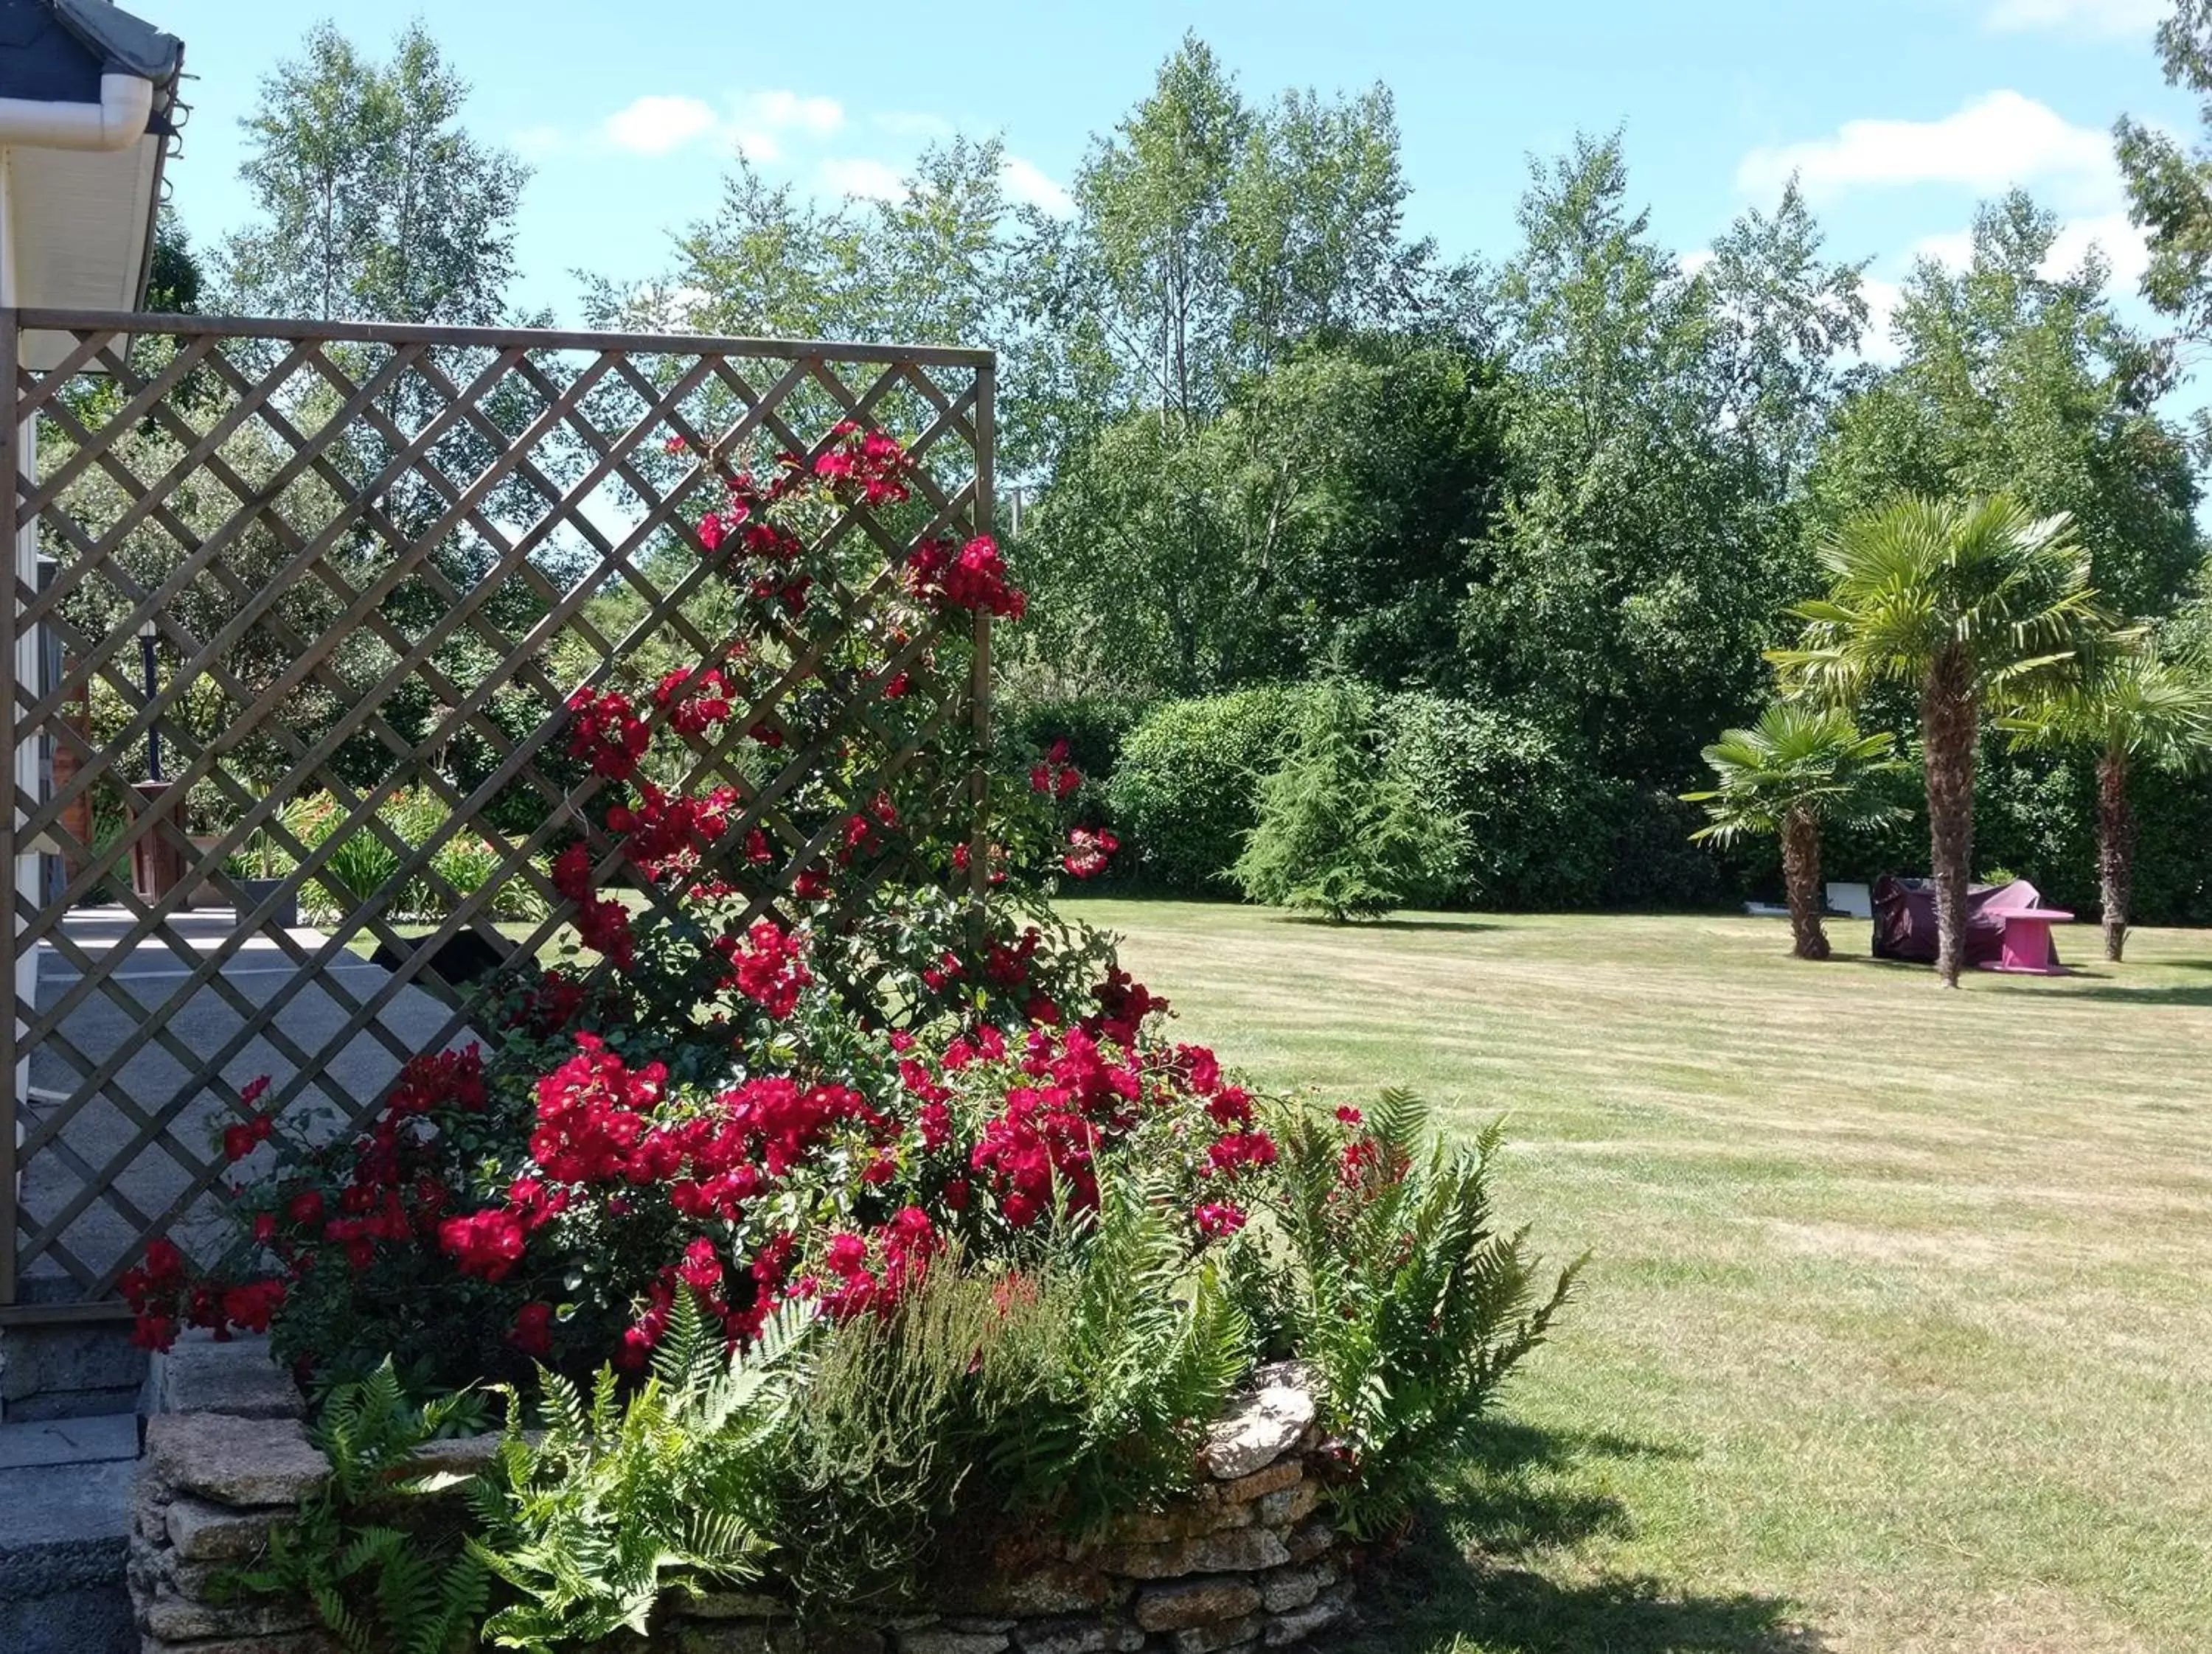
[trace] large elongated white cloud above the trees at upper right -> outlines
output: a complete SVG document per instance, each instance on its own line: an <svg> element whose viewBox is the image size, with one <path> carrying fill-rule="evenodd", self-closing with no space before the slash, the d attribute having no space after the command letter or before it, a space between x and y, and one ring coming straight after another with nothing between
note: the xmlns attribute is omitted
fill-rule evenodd
<svg viewBox="0 0 2212 1654"><path fill-rule="evenodd" d="M2110 199L2112 139L2073 126L2048 104L1997 91L1936 122L1858 119L1834 137L1752 150L1736 184L1767 195L1796 175L1807 195L1863 186L1962 184L1991 195L2044 181Z"/></svg>

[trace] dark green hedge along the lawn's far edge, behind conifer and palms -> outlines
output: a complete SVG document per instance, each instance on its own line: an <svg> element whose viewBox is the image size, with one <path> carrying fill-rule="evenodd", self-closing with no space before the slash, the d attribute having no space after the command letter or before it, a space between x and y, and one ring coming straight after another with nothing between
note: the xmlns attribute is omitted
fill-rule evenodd
<svg viewBox="0 0 2212 1654"><path fill-rule="evenodd" d="M1024 716L1042 739L1068 734L1086 776L1110 776L1099 803L1124 838L1124 876L1194 896L1234 893L1225 869L1252 829L1261 776L1283 761L1312 688L1267 685L1130 710L1088 703ZM1391 774L1467 823L1453 902L1484 909L1714 907L1778 898L1772 845L1717 854L1690 842L1699 816L1663 787L1593 772L1540 725L1440 694L1376 701ZM1121 721L1121 725L1115 723ZM1128 727L1115 756L1113 732ZM1694 778L1686 778L1683 787ZM1975 787L1975 871L2028 878L2084 918L2097 911L2097 794L2081 758L2013 754L1984 743ZM2212 924L2212 776L2143 772L2137 812L2135 920ZM1878 831L1829 831L1823 873L1871 880L1927 871L1920 776L1900 774L1905 816Z"/></svg>

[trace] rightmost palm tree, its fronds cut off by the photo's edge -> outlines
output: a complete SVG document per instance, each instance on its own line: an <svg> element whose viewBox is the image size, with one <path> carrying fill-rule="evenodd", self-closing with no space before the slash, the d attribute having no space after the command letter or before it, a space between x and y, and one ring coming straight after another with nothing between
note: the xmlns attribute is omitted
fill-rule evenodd
<svg viewBox="0 0 2212 1654"><path fill-rule="evenodd" d="M2190 765L2212 750L2212 679L2152 655L2115 655L2000 723L2022 745L2086 747L2097 754L2104 957L2117 964L2128 944L2128 898L2135 889L2128 772L2137 763Z"/></svg>

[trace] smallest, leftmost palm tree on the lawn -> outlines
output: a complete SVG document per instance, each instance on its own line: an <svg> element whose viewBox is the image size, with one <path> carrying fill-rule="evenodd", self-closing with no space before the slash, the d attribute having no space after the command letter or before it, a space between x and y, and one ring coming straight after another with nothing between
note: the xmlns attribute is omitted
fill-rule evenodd
<svg viewBox="0 0 2212 1654"><path fill-rule="evenodd" d="M1840 708L1774 701L1750 730L1723 730L1705 747L1719 785L1686 792L1712 820L1690 838L1730 845L1781 834L1783 884L1790 891L1790 935L1801 960L1827 957L1820 929L1820 823L1871 827L1893 818L1893 805L1869 798L1867 783L1896 770L1891 736L1860 734Z"/></svg>

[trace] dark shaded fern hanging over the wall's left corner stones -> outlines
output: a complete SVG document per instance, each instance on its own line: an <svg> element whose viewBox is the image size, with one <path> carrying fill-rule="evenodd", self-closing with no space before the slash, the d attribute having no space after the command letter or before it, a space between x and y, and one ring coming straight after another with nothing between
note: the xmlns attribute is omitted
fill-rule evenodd
<svg viewBox="0 0 2212 1654"><path fill-rule="evenodd" d="M330 1393L314 1444L330 1479L299 1519L270 1535L261 1568L234 1574L257 1594L305 1597L354 1654L451 1654L476 1645L491 1579L469 1554L451 1501L416 1506L414 1521L380 1521L411 1495L462 1482L425 1473L418 1448L482 1424L473 1391L414 1406L387 1360Z"/></svg>

